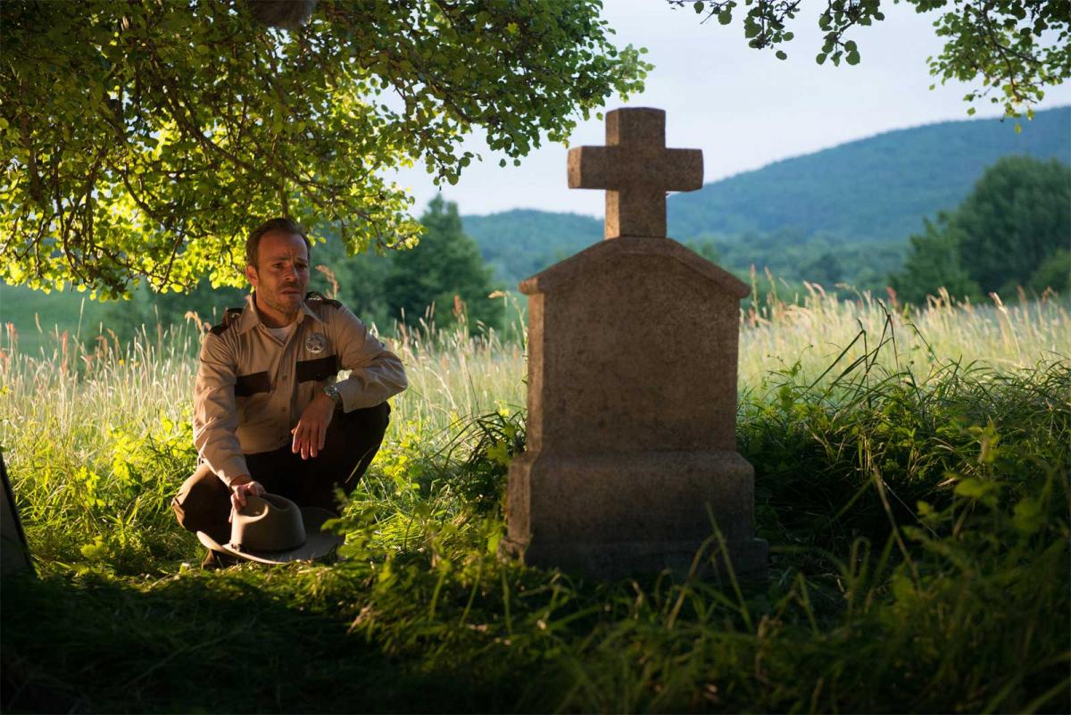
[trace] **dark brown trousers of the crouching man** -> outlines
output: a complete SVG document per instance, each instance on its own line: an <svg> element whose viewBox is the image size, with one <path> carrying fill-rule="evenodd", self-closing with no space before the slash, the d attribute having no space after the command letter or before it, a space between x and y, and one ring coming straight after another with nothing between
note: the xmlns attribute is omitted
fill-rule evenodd
<svg viewBox="0 0 1071 715"><path fill-rule="evenodd" d="M338 513L335 488L349 495L372 463L390 422L387 402L351 412L336 412L328 425L323 448L316 457L302 459L290 445L273 452L245 455L250 476L270 493L286 497L301 506L318 506ZM203 531L224 544L230 538L230 489L207 463L183 482L171 508L179 524Z"/></svg>

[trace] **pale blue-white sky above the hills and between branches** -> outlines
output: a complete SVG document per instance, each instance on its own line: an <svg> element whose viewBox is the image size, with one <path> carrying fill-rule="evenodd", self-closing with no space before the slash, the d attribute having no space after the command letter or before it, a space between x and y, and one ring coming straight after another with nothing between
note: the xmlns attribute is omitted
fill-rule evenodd
<svg viewBox="0 0 1071 715"><path fill-rule="evenodd" d="M615 44L646 47L645 59L654 64L642 94L628 103L615 97L606 110L665 109L667 146L702 149L705 183L891 130L968 119L963 95L969 85L929 89L934 78L926 58L942 46L932 27L934 13L883 3L884 21L847 36L859 45L861 62L819 66L814 56L821 49L820 4L803 0L789 28L795 37L784 45L788 59L782 61L772 51L748 47L739 17L728 26L716 19L702 24L705 15L696 15L691 3L675 10L665 0L604 0L603 17L617 31ZM976 103L976 117L1000 116L998 105L983 103ZM1071 86L1064 85L1049 89L1035 109L1067 104ZM1025 121L1023 131L1029 131ZM579 147L604 139L603 123L592 117L577 124L570 141ZM456 185L441 188L463 214L541 209L603 215L603 192L568 187L568 149L561 144L544 142L519 167L507 168L499 168L501 154L479 136L466 140L465 149L482 154L483 163L470 165ZM440 191L423 166L399 171L396 181L411 191L418 215Z"/></svg>

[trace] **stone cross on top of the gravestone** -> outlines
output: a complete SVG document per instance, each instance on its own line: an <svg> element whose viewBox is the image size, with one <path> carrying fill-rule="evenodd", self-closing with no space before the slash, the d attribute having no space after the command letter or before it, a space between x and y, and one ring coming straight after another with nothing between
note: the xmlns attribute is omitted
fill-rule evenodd
<svg viewBox="0 0 1071 715"><path fill-rule="evenodd" d="M569 151L569 187L605 188L605 238L665 238L666 192L703 187L703 151L666 149L666 112L615 109L606 146Z"/></svg>

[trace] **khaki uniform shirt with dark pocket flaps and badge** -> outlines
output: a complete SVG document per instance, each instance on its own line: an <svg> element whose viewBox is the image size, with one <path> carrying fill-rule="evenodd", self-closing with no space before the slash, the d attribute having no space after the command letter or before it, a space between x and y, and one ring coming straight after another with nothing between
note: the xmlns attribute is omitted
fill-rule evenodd
<svg viewBox="0 0 1071 715"><path fill-rule="evenodd" d="M291 443L290 429L333 382L349 412L406 389L402 361L337 301L306 295L286 343L260 322L253 295L205 336L194 386L197 453L228 485L246 474L243 454ZM337 380L338 370L352 370Z"/></svg>

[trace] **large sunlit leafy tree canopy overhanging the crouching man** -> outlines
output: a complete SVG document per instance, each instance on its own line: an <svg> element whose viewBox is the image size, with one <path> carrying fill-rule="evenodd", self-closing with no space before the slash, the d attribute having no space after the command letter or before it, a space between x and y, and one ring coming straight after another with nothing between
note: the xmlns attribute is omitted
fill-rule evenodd
<svg viewBox="0 0 1071 715"><path fill-rule="evenodd" d="M322 0L285 32L237 0L4 2L0 279L239 286L245 232L277 214L350 253L411 245L384 170L453 183L478 127L516 162L642 90L599 6Z"/></svg>

